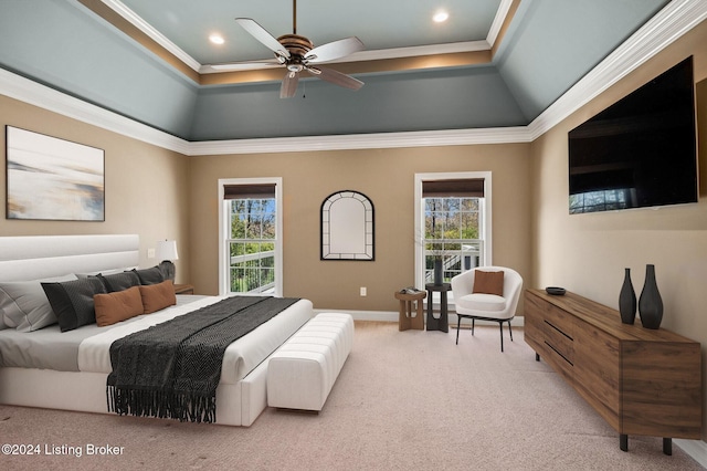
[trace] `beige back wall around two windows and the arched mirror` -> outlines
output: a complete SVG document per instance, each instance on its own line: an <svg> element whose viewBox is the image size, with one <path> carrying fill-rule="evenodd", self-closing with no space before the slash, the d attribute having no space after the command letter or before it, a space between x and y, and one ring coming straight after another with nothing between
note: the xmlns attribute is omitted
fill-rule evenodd
<svg viewBox="0 0 707 471"><path fill-rule="evenodd" d="M394 311L393 292L414 282L414 174L492 171L493 261L530 273L528 144L203 156L190 160L192 280L218 292L219 178L283 177L284 294L316 308ZM319 208L338 190L376 209L376 260L319 260ZM361 297L359 287L368 295ZM421 286L419 286L421 287Z"/></svg>

